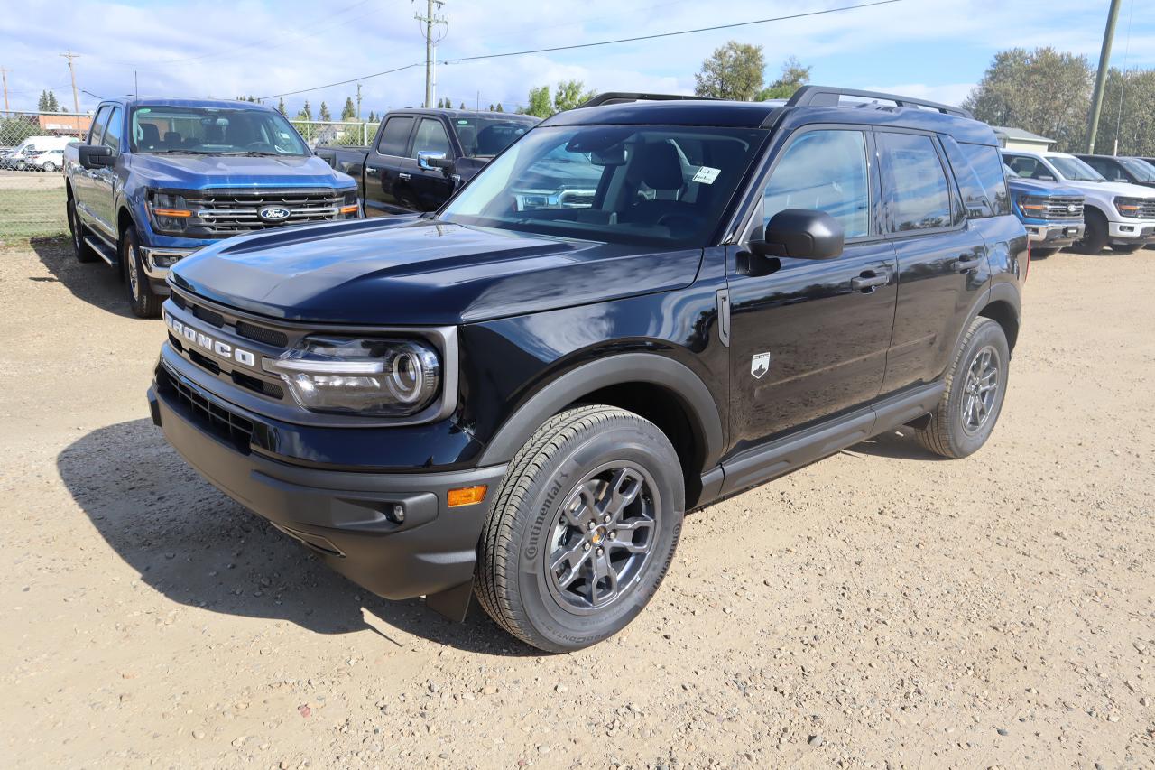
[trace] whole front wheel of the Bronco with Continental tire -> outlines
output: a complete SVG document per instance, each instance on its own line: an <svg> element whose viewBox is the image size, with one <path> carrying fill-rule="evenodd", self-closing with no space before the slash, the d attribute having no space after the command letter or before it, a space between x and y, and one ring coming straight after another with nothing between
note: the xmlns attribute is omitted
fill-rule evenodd
<svg viewBox="0 0 1155 770"><path fill-rule="evenodd" d="M657 591L685 509L681 466L654 423L567 409L517 452L478 548L475 592L507 631L568 652L613 636Z"/></svg>

